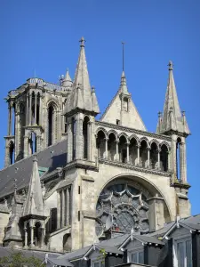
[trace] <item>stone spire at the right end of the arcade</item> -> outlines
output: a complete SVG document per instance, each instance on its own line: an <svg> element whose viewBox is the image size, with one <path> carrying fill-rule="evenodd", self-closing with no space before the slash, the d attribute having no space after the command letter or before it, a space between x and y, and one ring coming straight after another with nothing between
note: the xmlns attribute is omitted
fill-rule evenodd
<svg viewBox="0 0 200 267"><path fill-rule="evenodd" d="M164 101L164 115L159 127L158 134L164 134L168 131L178 131L180 133L190 134L185 113L182 115L180 104L176 92L176 86L173 78L172 61L169 62L169 78L167 91Z"/></svg>

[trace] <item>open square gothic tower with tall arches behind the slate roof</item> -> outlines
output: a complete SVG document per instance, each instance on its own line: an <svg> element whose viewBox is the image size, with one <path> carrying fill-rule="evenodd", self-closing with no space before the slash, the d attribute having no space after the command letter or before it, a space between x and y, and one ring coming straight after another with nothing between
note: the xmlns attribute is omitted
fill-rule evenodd
<svg viewBox="0 0 200 267"><path fill-rule="evenodd" d="M66 138L66 122L62 112L71 85L67 71L66 76L61 78L60 85L34 77L8 93L8 134L4 137L4 166Z"/></svg>

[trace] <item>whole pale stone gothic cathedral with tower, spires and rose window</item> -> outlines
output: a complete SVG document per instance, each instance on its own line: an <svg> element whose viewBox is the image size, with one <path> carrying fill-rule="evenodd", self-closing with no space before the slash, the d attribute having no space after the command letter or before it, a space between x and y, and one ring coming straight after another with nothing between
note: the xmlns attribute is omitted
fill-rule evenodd
<svg viewBox="0 0 200 267"><path fill-rule="evenodd" d="M70 252L120 234L158 231L190 215L190 132L172 61L168 67L156 133L147 131L124 69L116 95L96 119L99 100L83 37L73 80L68 70L60 85L31 77L8 93L0 171L4 247Z"/></svg>

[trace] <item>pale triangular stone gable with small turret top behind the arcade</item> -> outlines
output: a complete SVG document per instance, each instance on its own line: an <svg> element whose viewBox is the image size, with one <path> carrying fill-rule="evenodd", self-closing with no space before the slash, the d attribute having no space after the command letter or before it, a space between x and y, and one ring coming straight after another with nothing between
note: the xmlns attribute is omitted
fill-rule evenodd
<svg viewBox="0 0 200 267"><path fill-rule="evenodd" d="M124 71L121 76L119 90L109 103L102 117L100 117L100 120L114 125L119 124L124 127L132 127L141 131L147 131L132 101L131 93L128 93Z"/></svg>

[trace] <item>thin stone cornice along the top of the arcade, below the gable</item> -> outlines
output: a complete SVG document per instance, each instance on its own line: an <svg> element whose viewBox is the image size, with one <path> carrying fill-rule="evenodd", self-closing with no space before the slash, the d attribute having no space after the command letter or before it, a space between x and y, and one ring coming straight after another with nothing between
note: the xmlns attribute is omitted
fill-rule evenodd
<svg viewBox="0 0 200 267"><path fill-rule="evenodd" d="M121 125L113 125L113 124L109 124L109 123L106 123L106 122L101 122L99 120L95 121L95 125L100 125L102 127L108 127L108 128L112 128L112 129L128 132L128 133L132 133L132 134L145 135L145 136L149 136L149 137L153 137L153 138L156 138L156 139L165 140L165 141L169 141L169 142L172 141L171 136L162 135L162 134L153 134L153 133L149 133L149 132L145 132L145 131L141 131L141 130L137 130L137 129L132 129L132 128L129 128L129 127L124 127L124 126L121 126Z"/></svg>

